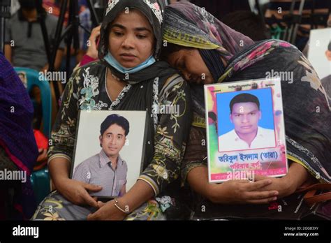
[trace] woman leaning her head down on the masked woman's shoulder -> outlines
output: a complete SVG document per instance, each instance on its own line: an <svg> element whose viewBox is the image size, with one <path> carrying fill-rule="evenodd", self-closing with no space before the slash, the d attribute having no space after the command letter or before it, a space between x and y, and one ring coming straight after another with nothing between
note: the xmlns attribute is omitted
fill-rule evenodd
<svg viewBox="0 0 331 243"><path fill-rule="evenodd" d="M193 126L182 180L213 202L266 203L288 196L309 179L331 182L331 112L314 68L296 47L281 40L254 43L192 3L166 7L164 58L192 84ZM256 182L208 184L203 85L267 78L282 80L286 144L290 167L282 178L256 176Z"/></svg>

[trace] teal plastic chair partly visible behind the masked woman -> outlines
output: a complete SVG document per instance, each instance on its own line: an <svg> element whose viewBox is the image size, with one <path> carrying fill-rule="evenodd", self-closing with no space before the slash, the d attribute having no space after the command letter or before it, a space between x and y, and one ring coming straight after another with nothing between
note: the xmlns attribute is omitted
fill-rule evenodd
<svg viewBox="0 0 331 243"><path fill-rule="evenodd" d="M43 134L50 138L51 114L52 114L52 94L50 84L43 75L31 68L14 68L16 73L24 73L27 78L27 91L36 86L41 90L41 107L43 111ZM41 170L36 170L31 174L31 184L34 188L36 202L41 202L50 193L50 176L47 166Z"/></svg>

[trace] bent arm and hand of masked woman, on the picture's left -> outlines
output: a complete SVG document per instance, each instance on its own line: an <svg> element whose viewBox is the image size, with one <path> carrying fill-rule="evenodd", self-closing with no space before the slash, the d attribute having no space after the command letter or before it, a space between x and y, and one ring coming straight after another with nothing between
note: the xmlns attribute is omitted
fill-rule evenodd
<svg viewBox="0 0 331 243"><path fill-rule="evenodd" d="M74 204L97 207L96 200L89 196L87 190L100 191L101 186L94 186L69 178L78 119L77 99L73 97L73 94L78 92L75 80L78 77L78 72L73 73L66 85L61 108L52 128L51 143L48 149L48 168L52 182L62 196Z"/></svg>

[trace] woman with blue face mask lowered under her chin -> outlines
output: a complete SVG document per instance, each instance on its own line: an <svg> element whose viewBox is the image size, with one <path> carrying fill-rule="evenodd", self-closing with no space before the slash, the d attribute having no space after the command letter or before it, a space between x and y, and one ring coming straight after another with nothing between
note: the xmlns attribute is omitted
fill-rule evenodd
<svg viewBox="0 0 331 243"><path fill-rule="evenodd" d="M163 9L162 0L108 2L101 61L73 73L52 130L48 165L57 191L45 198L33 219L163 219L157 202L147 200L179 177L191 124L186 83L167 63L156 61L163 43ZM180 112L158 114L160 104L179 105ZM144 171L117 200L97 202L87 191L100 191L100 186L68 177L78 110L147 110Z"/></svg>

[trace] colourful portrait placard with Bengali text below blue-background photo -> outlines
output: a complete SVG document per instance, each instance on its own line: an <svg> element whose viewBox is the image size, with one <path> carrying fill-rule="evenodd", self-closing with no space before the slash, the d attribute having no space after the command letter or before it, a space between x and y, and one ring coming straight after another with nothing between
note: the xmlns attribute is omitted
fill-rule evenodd
<svg viewBox="0 0 331 243"><path fill-rule="evenodd" d="M209 182L286 175L280 79L205 85Z"/></svg>

